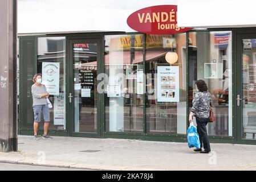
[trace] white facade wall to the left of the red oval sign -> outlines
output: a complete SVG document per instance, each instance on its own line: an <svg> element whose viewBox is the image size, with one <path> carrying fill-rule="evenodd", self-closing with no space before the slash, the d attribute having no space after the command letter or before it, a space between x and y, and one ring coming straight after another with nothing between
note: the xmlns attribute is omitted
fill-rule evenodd
<svg viewBox="0 0 256 182"><path fill-rule="evenodd" d="M131 32L128 16L156 5L177 5L177 0L18 0L18 34Z"/></svg>

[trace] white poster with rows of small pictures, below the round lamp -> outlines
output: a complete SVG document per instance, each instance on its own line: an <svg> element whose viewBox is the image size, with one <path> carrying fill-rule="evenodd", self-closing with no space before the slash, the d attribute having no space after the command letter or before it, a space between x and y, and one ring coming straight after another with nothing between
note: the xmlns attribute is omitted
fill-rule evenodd
<svg viewBox="0 0 256 182"><path fill-rule="evenodd" d="M157 102L180 102L177 66L157 67Z"/></svg>

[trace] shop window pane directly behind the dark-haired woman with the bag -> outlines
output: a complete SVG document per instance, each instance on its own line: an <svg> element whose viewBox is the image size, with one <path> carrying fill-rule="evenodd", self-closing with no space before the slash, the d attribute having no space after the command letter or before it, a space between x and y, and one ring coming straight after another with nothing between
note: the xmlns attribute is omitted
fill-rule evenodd
<svg viewBox="0 0 256 182"><path fill-rule="evenodd" d="M212 94L216 118L207 125L209 135L232 136L231 47L231 31L189 33L189 110L196 93L194 83L204 80Z"/></svg>

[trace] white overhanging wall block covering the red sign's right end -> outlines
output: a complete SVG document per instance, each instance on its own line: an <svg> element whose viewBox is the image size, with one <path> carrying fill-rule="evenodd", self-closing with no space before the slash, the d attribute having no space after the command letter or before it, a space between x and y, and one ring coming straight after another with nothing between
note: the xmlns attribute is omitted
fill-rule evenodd
<svg viewBox="0 0 256 182"><path fill-rule="evenodd" d="M256 27L253 0L178 0L179 27Z"/></svg>

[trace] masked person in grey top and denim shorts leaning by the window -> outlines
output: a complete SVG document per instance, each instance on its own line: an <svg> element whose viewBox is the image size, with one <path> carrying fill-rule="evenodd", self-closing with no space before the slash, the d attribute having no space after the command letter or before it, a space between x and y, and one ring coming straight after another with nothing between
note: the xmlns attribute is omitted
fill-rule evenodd
<svg viewBox="0 0 256 182"><path fill-rule="evenodd" d="M34 84L31 86L31 93L33 98L33 110L34 110L34 140L38 139L38 123L40 122L41 111L43 111L44 119L44 133L43 138L51 138L48 134L48 127L50 124L50 110L47 105L46 98L49 96L49 93L46 90L46 86L43 85L42 75L36 73L33 77Z"/></svg>

